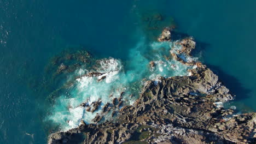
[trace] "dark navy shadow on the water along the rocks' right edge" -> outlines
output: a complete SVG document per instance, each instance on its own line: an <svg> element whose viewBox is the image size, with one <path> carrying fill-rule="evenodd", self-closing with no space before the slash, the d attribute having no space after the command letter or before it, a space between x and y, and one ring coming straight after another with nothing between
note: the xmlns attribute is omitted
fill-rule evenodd
<svg viewBox="0 0 256 144"><path fill-rule="evenodd" d="M236 95L236 100L242 100L249 97L249 93L252 91L242 86L242 83L234 76L225 73L220 67L216 65L206 64L214 74L219 76L219 80L230 90L230 92Z"/></svg>

